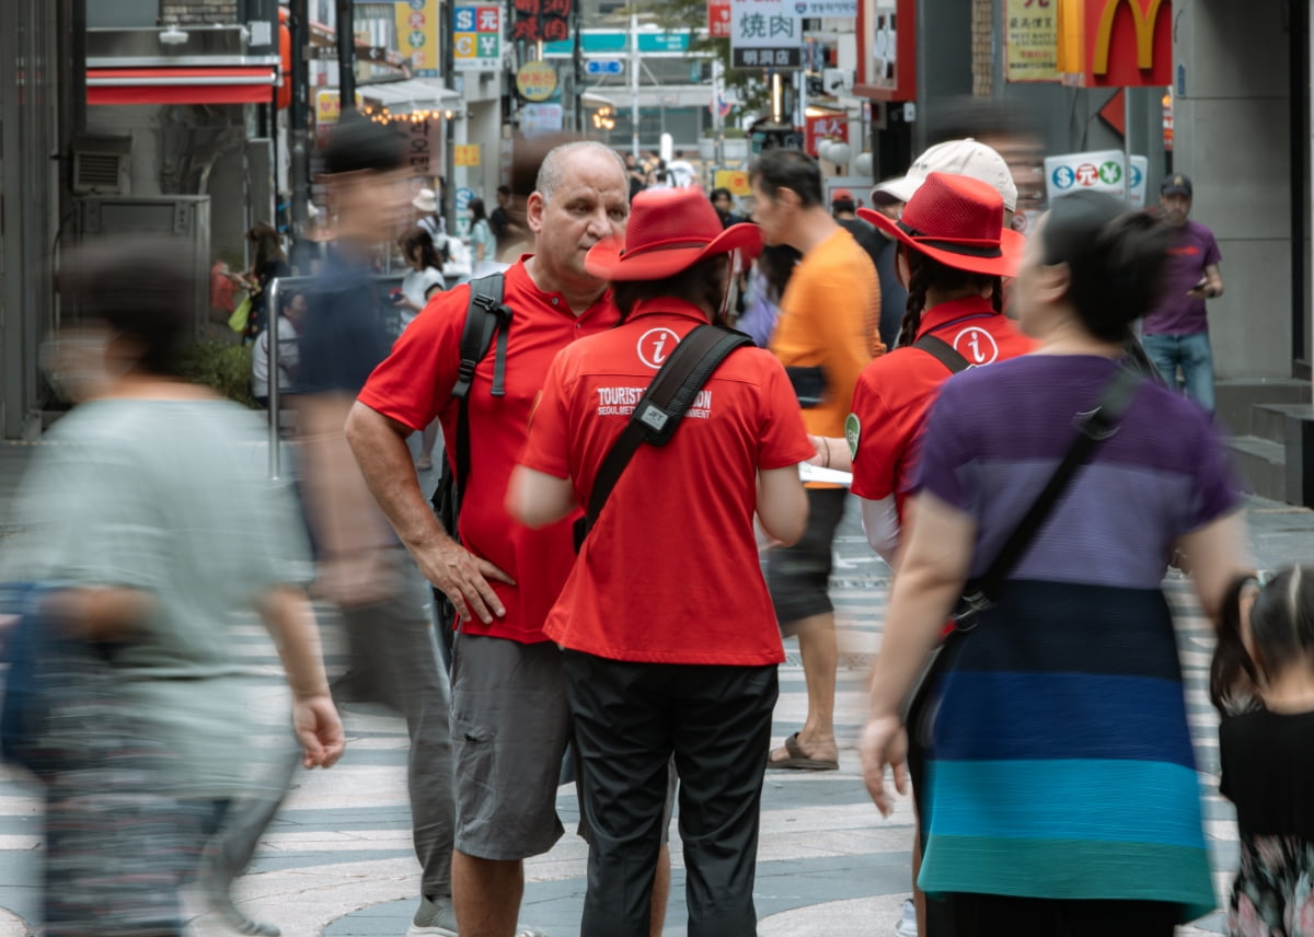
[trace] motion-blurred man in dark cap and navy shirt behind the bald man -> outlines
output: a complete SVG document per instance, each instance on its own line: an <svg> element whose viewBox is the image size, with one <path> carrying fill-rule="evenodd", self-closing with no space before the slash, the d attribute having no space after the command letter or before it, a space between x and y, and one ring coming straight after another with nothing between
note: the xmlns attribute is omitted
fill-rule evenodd
<svg viewBox="0 0 1314 937"><path fill-rule="evenodd" d="M451 729L430 591L378 513L343 435L355 396L388 355L369 260L407 221L403 167L399 137L359 114L344 116L328 138L325 173L336 240L309 290L297 409L306 502L322 548L317 587L342 611L351 652L342 693L406 718L411 838L420 863L410 933L452 937Z"/></svg>

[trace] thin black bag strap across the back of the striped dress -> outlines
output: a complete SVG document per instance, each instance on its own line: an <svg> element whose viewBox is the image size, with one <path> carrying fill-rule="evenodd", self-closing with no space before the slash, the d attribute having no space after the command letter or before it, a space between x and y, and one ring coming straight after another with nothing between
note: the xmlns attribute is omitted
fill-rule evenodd
<svg viewBox="0 0 1314 937"><path fill-rule="evenodd" d="M1100 443L1118 431L1118 424L1127 407L1131 406L1143 380L1139 375L1118 365L1113 378L1104 388L1095 410L1076 415L1077 432L1072 444L1068 446L1063 461L1054 469L1054 474L1050 476L1049 482L1026 510L1026 514L1022 515L1022 519L1017 522L1017 527L1004 541L989 568L980 578L968 585L968 593L963 599L971 610L979 612L993 603L999 587L1004 585L1009 572L1030 548L1031 540L1049 519L1050 511L1054 510L1058 499L1072 481L1072 476L1089 461Z"/></svg>

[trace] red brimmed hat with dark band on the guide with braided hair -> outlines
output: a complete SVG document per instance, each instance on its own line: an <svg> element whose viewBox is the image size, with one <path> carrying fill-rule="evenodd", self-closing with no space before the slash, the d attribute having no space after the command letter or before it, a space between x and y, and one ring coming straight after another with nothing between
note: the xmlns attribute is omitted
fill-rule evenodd
<svg viewBox="0 0 1314 937"><path fill-rule="evenodd" d="M891 221L859 208L858 217L946 267L987 276L1017 276L1026 238L1004 227L1004 200L970 176L932 172Z"/></svg>

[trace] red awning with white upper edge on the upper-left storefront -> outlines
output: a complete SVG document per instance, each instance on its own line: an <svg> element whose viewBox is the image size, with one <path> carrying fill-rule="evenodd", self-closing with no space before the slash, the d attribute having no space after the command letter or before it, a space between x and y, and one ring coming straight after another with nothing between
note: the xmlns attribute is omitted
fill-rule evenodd
<svg viewBox="0 0 1314 937"><path fill-rule="evenodd" d="M271 66L88 68L87 104L267 104Z"/></svg>

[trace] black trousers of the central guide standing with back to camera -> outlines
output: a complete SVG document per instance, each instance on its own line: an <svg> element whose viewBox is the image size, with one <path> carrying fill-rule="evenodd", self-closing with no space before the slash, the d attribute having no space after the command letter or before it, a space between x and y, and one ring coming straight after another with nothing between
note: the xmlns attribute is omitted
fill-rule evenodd
<svg viewBox="0 0 1314 937"><path fill-rule="evenodd" d="M593 833L581 937L648 934L671 753L689 936L753 937L775 666L562 660Z"/></svg>

